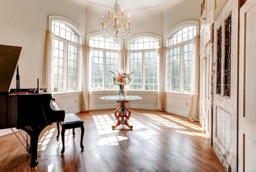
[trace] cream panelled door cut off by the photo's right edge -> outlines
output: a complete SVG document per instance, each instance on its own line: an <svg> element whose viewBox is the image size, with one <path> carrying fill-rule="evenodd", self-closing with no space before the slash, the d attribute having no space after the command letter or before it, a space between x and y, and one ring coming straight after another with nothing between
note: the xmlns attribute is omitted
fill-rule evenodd
<svg viewBox="0 0 256 172"><path fill-rule="evenodd" d="M240 8L238 171L256 171L256 0Z"/></svg>

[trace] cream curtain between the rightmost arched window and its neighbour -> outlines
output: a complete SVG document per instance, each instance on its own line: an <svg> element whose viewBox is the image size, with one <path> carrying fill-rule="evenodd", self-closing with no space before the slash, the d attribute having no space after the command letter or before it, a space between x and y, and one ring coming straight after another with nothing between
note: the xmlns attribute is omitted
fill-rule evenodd
<svg viewBox="0 0 256 172"><path fill-rule="evenodd" d="M158 48L158 98L156 111L164 111L165 107L165 50L166 47Z"/></svg>

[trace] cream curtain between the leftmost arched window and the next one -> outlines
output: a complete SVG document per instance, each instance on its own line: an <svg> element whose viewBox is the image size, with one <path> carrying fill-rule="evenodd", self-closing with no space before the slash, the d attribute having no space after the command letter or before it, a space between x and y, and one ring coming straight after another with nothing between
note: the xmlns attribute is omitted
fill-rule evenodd
<svg viewBox="0 0 256 172"><path fill-rule="evenodd" d="M82 112L90 111L90 46L82 45L83 48L83 73L82 73L82 86L83 86L83 109Z"/></svg>

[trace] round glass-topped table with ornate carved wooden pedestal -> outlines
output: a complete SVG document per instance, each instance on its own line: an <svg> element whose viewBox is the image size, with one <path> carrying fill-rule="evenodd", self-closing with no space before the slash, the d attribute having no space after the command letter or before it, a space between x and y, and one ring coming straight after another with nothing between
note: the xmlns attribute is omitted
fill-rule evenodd
<svg viewBox="0 0 256 172"><path fill-rule="evenodd" d="M142 100L142 97L140 96L125 96L125 98L119 98L118 96L103 96L100 97L101 100L111 100L111 101L116 101L119 103L119 107L116 108L116 111L114 112L114 115L116 117L116 125L112 126L112 128L116 128L120 124L124 124L127 127L129 127L132 130L133 126L130 126L128 123L128 120L131 116L131 111L127 108L126 103L129 101L134 101L134 100ZM128 115L127 115L128 113Z"/></svg>

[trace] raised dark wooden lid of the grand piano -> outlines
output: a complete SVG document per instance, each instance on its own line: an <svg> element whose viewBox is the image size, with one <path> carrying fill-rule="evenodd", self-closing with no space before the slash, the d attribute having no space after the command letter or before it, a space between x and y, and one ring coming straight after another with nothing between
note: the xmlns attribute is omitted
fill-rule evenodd
<svg viewBox="0 0 256 172"><path fill-rule="evenodd" d="M0 92L8 92L22 47L0 45Z"/></svg>

